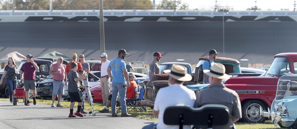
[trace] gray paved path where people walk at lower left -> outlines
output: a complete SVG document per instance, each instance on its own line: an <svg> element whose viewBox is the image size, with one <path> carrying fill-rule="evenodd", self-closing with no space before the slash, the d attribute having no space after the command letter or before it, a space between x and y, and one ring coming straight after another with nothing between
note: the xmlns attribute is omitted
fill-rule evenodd
<svg viewBox="0 0 297 129"><path fill-rule="evenodd" d="M141 129L152 123L132 117L112 118L107 113L68 118L68 108L51 108L41 104L25 106L24 103L13 106L6 101L0 101L0 114L0 129Z"/></svg>

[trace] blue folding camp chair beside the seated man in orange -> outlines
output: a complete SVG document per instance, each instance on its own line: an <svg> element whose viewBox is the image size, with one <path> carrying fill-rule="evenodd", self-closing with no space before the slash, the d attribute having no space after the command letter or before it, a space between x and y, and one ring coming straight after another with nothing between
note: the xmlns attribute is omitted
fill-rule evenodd
<svg viewBox="0 0 297 129"><path fill-rule="evenodd" d="M137 103L140 100L144 99L144 89L140 89L139 97L134 99L126 99L127 110L141 110L140 105Z"/></svg>

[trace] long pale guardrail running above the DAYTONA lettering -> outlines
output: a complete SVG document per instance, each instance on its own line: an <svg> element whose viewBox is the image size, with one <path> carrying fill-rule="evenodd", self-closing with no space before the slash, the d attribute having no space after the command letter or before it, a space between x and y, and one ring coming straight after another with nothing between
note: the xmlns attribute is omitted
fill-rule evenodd
<svg viewBox="0 0 297 129"><path fill-rule="evenodd" d="M104 10L104 15L223 15L222 12L214 11L173 11L173 10ZM99 10L1 10L0 16L13 15L100 15ZM226 13L225 13L226 15ZM297 12L292 11L229 11L227 15L297 15Z"/></svg>

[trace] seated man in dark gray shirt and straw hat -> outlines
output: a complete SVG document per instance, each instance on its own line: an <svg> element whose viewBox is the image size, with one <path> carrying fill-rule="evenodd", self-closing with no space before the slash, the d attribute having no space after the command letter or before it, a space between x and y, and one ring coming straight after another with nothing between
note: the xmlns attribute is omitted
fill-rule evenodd
<svg viewBox="0 0 297 129"><path fill-rule="evenodd" d="M224 126L213 126L213 129L232 129L234 123L238 121L241 115L241 105L238 94L222 84L223 79L229 79L230 76L225 74L225 67L220 63L215 63L210 70L203 70L204 74L209 76L209 88L197 93L195 107L205 104L222 104L229 108L229 122ZM201 128L207 128L202 127Z"/></svg>

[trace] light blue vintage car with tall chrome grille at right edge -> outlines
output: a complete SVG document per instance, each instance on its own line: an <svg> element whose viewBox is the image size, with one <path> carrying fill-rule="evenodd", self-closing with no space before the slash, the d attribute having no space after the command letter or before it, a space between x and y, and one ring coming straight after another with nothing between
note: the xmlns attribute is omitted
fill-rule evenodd
<svg viewBox="0 0 297 129"><path fill-rule="evenodd" d="M293 63L297 71L297 62ZM282 128L297 129L297 75L286 74L279 78L277 93L271 105L271 111L260 109L260 114Z"/></svg>

